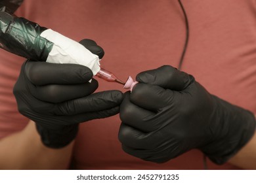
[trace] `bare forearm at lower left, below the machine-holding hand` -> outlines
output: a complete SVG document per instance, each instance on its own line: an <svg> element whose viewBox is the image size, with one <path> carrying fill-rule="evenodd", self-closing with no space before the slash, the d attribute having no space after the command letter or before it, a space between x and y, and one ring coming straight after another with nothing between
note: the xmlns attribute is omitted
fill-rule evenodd
<svg viewBox="0 0 256 183"><path fill-rule="evenodd" d="M30 122L0 141L0 169L67 169L74 142L61 149L45 147Z"/></svg>

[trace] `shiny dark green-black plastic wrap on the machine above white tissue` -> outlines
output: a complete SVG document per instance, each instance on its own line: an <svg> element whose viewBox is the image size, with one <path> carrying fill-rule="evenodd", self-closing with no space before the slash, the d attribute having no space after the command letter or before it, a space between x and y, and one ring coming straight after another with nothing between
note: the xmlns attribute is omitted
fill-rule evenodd
<svg viewBox="0 0 256 183"><path fill-rule="evenodd" d="M53 42L40 37L45 27L0 11L0 46L24 58L45 61L53 48Z"/></svg>

